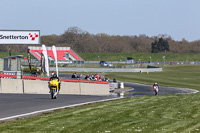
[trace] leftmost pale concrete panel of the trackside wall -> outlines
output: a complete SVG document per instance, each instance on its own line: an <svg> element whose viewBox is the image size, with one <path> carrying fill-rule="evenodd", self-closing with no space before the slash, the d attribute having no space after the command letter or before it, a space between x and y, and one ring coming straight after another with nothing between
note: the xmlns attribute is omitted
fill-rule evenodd
<svg viewBox="0 0 200 133"><path fill-rule="evenodd" d="M21 79L1 78L1 93L23 93Z"/></svg>

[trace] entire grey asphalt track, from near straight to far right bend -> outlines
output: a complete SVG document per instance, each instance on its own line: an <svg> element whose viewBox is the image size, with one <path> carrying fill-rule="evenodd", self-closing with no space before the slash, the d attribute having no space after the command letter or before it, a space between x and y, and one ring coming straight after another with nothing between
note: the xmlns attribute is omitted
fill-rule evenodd
<svg viewBox="0 0 200 133"><path fill-rule="evenodd" d="M152 86L124 83L124 86L133 88L127 96L153 96ZM61 88L62 89L62 88ZM122 90L125 91L125 90ZM196 90L160 87L158 95L197 93ZM54 109L79 106L118 99L117 95L89 96L89 95L58 95L51 99L50 94L0 94L0 121L26 117Z"/></svg>

